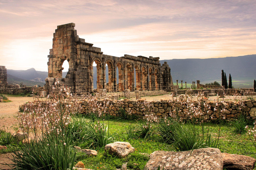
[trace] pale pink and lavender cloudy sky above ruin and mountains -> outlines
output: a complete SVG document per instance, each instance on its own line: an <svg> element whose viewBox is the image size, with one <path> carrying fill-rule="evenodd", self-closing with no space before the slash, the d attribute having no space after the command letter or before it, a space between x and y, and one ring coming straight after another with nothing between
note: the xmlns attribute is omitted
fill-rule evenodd
<svg viewBox="0 0 256 170"><path fill-rule="evenodd" d="M104 54L256 54L255 0L0 0L0 65L47 71L57 25L75 23Z"/></svg>

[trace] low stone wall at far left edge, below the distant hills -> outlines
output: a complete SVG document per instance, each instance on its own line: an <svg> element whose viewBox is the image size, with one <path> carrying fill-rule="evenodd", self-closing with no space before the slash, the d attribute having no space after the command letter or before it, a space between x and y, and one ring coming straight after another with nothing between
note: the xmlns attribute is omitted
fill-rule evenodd
<svg viewBox="0 0 256 170"><path fill-rule="evenodd" d="M24 92L34 92L35 94L40 94L41 91L45 91L43 87L23 87L23 88L8 88L0 89L0 94L20 94Z"/></svg>

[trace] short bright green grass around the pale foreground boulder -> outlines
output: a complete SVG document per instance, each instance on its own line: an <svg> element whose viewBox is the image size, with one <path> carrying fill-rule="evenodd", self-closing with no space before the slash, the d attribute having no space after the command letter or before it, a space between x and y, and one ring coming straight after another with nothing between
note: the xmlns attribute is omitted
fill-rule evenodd
<svg viewBox="0 0 256 170"><path fill-rule="evenodd" d="M104 121L107 123L107 121ZM127 158L118 158L115 156L107 155L103 148L96 148L98 155L96 157L90 157L82 153L78 153L76 162L82 161L86 168L91 169L113 169L121 168L122 164L128 162L127 167L129 169L143 169L149 160L150 153L156 150L174 151L173 146L166 144L161 140L160 136L153 135L150 138L127 138L126 130L130 125L138 126L136 121L128 120L110 120L109 121L109 132L114 135L114 141L126 141L129 142L134 148L135 152L130 154ZM219 125L213 123L205 123L204 130L208 130L212 137L218 136ZM187 126L185 124L185 126ZM155 127L155 124L153 124ZM195 128L201 128L196 125ZM82 147L82 144L80 145ZM227 152L232 154L242 154L256 158L255 148L246 133L236 133L235 128L229 124L221 125L220 138L219 138L219 149L221 152ZM142 155L140 153L146 153Z"/></svg>

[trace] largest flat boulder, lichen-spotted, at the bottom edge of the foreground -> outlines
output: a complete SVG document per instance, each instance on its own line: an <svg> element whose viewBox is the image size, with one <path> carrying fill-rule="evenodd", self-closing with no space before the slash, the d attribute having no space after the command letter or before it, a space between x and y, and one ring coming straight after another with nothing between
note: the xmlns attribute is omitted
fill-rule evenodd
<svg viewBox="0 0 256 170"><path fill-rule="evenodd" d="M150 155L146 167L149 170L157 170L159 165L160 169L164 167L165 170L222 170L223 159L217 148L201 148L192 152L191 150L181 152L158 150Z"/></svg>

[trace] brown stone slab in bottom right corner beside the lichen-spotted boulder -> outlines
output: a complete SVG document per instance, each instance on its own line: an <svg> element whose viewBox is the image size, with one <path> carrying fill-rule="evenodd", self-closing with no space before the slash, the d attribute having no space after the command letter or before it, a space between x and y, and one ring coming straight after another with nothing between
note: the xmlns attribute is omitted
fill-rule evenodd
<svg viewBox="0 0 256 170"><path fill-rule="evenodd" d="M236 170L252 170L255 167L256 159L250 156L221 153L223 168Z"/></svg>

